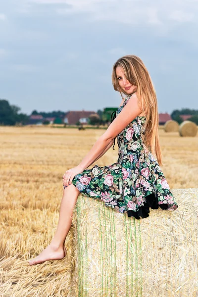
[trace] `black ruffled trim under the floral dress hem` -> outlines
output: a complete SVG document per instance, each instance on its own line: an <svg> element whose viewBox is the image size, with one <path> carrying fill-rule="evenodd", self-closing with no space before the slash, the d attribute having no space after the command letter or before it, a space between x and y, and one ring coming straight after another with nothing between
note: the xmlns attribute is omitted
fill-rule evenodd
<svg viewBox="0 0 198 297"><path fill-rule="evenodd" d="M158 204L158 198L155 197L154 193L148 195L146 197L146 201L144 202L144 205L142 205L138 211L133 211L133 210L127 210L127 215L128 217L135 217L137 220L140 220L140 216L144 219L147 218L149 216L149 207L151 207L152 209L158 209L160 206L160 208L162 209L167 209L168 208L168 203L163 203L163 204Z"/></svg>

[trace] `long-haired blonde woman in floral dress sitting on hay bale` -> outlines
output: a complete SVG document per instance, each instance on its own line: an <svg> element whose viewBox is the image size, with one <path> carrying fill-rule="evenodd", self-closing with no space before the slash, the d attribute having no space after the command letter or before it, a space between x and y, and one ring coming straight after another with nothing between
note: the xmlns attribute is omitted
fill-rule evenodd
<svg viewBox="0 0 198 297"><path fill-rule="evenodd" d="M64 242L80 193L99 198L106 206L136 219L148 217L149 207L178 208L160 168L157 98L145 64L136 55L121 57L113 65L112 83L114 90L121 94L121 105L81 163L64 173L55 235L40 255L29 260L30 265L66 256ZM116 137L117 162L86 169L113 145Z"/></svg>

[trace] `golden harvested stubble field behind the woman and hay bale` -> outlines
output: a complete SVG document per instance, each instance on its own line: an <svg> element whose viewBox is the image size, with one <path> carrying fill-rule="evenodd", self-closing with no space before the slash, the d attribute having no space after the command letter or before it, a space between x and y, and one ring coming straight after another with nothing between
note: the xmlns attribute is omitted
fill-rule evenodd
<svg viewBox="0 0 198 297"><path fill-rule="evenodd" d="M62 175L77 166L104 130L0 127L0 296L68 296L72 256L29 266L49 244L62 198ZM198 135L160 127L162 171L171 189L198 188ZM117 141L94 164L117 160ZM94 166L91 165L90 167ZM90 168L89 167L89 168Z"/></svg>

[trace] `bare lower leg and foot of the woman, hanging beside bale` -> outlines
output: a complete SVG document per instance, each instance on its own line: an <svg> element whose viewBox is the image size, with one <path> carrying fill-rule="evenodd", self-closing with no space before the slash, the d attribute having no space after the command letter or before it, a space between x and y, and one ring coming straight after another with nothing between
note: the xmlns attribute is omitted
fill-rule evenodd
<svg viewBox="0 0 198 297"><path fill-rule="evenodd" d="M44 263L47 260L60 260L66 256L65 239L71 228L73 209L80 191L71 183L63 190L59 220L51 243L36 258L29 260L30 265Z"/></svg>

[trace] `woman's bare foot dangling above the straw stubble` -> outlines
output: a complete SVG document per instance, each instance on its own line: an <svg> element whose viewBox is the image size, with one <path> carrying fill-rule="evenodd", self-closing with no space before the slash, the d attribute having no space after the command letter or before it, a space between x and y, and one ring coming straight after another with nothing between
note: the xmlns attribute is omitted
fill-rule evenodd
<svg viewBox="0 0 198 297"><path fill-rule="evenodd" d="M65 245L55 248L51 244L46 247L36 258L29 260L30 265L42 264L48 260L61 260L67 254Z"/></svg>

